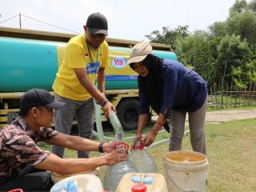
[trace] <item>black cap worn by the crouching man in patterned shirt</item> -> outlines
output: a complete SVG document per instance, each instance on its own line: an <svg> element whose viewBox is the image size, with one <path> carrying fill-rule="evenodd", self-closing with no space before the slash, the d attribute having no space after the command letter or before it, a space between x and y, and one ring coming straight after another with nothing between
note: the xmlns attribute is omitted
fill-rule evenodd
<svg viewBox="0 0 256 192"><path fill-rule="evenodd" d="M65 102L54 101L47 90L33 89L26 91L22 95L20 109L26 109L34 106L46 106L50 109L58 110L65 106Z"/></svg>

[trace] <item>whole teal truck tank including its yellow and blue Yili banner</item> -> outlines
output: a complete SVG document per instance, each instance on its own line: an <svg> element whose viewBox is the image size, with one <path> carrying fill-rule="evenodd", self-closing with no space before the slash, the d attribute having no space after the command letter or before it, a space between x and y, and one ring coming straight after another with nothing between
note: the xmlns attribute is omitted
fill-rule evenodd
<svg viewBox="0 0 256 192"><path fill-rule="evenodd" d="M25 92L31 88L52 90L65 56L65 42L0 38L0 92ZM106 90L137 89L137 75L126 62L130 48L110 46ZM173 52L153 50L159 58L177 61Z"/></svg>

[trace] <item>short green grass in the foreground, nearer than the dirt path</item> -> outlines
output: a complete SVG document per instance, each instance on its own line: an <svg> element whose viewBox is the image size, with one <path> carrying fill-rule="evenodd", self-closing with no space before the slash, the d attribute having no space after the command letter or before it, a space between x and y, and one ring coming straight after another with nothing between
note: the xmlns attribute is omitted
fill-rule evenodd
<svg viewBox="0 0 256 192"><path fill-rule="evenodd" d="M147 129L149 130L149 128ZM146 130L146 131L147 131ZM126 132L126 137L135 131ZM113 133L106 136L113 137ZM156 141L169 138L169 134L158 135ZM130 144L131 141L127 141ZM219 124L206 124L207 158L209 178L206 191L256 191L256 119L246 119ZM165 174L162 167L163 154L168 152L169 143L151 147L158 172ZM43 145L42 148L50 149ZM189 134L182 141L182 150L191 150ZM91 156L97 156L92 152ZM66 150L65 157L77 156L73 150Z"/></svg>

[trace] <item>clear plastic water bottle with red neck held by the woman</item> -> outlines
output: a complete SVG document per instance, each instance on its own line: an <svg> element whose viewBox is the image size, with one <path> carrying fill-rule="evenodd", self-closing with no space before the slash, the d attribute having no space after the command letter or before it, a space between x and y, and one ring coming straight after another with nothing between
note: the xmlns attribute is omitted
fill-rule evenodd
<svg viewBox="0 0 256 192"><path fill-rule="evenodd" d="M140 145L134 142L134 150L129 154L129 160L134 163L138 173L158 173L154 158Z"/></svg>

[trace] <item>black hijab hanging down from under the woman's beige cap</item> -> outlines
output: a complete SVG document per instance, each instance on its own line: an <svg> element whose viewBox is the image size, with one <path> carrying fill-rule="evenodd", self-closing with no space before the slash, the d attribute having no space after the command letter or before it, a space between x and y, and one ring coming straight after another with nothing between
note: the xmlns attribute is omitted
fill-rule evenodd
<svg viewBox="0 0 256 192"><path fill-rule="evenodd" d="M149 104L157 114L160 113L163 102L162 61L162 58L158 58L154 54L148 54L142 63L146 66L149 74L146 77L138 75L138 89L146 91L146 95L149 97ZM130 67L134 70L134 63L130 64ZM170 133L167 122L165 122L164 128Z"/></svg>

